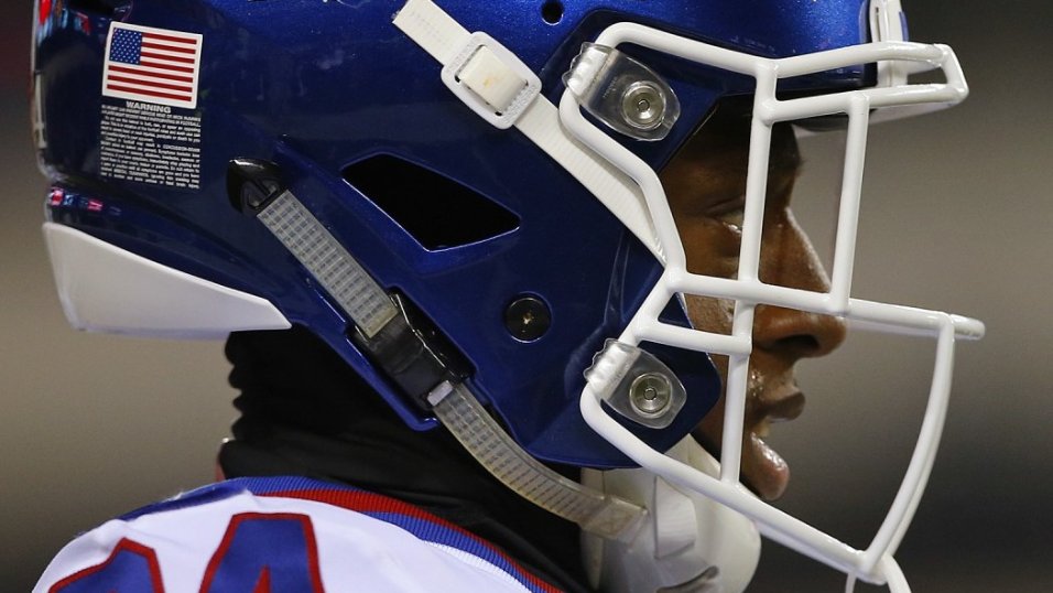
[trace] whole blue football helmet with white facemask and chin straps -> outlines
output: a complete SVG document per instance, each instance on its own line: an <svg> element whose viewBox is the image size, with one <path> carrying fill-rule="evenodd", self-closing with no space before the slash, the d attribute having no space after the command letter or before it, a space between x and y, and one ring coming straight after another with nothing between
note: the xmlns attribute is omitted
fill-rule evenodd
<svg viewBox="0 0 1053 593"><path fill-rule="evenodd" d="M868 125L967 94L948 47L907 41L898 0L37 0L37 17L45 236L75 326L302 325L408 425L445 424L578 521L605 590L740 591L758 530L908 590L892 553L953 344L984 328L850 296ZM930 71L938 83L910 79ZM730 103L751 123L727 278L687 270L659 172ZM847 130L828 292L759 279L768 147L786 121ZM695 295L734 304L729 333L692 326ZM865 550L739 482L762 304L936 339L922 438ZM721 397L717 463L685 436ZM589 471L572 484L540 462ZM725 542L663 548L675 500Z"/></svg>

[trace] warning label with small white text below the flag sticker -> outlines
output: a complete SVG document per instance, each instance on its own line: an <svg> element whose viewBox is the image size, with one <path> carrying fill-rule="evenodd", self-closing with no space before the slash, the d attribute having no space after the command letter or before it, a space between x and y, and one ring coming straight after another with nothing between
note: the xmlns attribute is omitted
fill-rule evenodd
<svg viewBox="0 0 1053 593"><path fill-rule="evenodd" d="M99 140L104 176L200 188L199 112L132 100L104 103Z"/></svg>

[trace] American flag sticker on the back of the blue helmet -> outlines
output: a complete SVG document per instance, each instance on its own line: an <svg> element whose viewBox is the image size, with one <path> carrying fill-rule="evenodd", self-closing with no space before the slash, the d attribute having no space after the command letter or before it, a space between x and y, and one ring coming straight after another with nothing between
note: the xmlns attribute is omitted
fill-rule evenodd
<svg viewBox="0 0 1053 593"><path fill-rule="evenodd" d="M200 64L197 33L112 23L102 96L194 109Z"/></svg>

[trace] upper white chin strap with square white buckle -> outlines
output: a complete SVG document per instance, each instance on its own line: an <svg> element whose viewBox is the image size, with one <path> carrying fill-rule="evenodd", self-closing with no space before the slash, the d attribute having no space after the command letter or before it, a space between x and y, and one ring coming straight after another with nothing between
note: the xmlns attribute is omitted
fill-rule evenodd
<svg viewBox="0 0 1053 593"><path fill-rule="evenodd" d="M536 76L512 52L488 35L469 33L432 0L409 0L395 14L394 25L442 64L443 82L474 111L499 128L514 127L522 132L607 206L655 257L664 259L640 186L563 130L558 109L540 94L540 83L533 88L530 79ZM507 85L510 78L519 79L522 93L508 98L490 88L492 80ZM491 100L503 104L492 105ZM486 106L490 114L482 112Z"/></svg>

